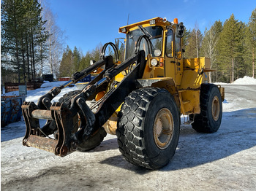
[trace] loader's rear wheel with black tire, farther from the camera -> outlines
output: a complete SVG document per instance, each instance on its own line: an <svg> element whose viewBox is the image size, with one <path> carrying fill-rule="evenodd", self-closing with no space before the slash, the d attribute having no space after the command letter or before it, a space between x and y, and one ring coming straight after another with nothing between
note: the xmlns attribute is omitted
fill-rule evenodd
<svg viewBox="0 0 256 191"><path fill-rule="evenodd" d="M189 115L193 120L193 114ZM200 133L214 133L222 122L222 97L217 85L202 84L200 90L200 114L195 114L192 128Z"/></svg>

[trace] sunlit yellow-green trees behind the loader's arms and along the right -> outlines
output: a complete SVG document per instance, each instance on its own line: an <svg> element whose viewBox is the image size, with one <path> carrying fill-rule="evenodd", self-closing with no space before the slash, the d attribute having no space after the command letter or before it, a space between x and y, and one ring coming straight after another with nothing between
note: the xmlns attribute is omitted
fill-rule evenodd
<svg viewBox="0 0 256 191"><path fill-rule="evenodd" d="M233 82L244 76L255 77L256 9L248 23L236 20L232 14L224 23L215 21L203 33L196 24L192 30L185 30L183 39L184 58L211 58L211 69L216 71L208 75L210 82ZM75 71L88 67L91 60L99 60L101 47L99 44L86 55L80 55L76 47L73 51L67 47L61 60L60 75L71 76ZM124 47L119 53L124 58ZM113 52L108 50L108 54L113 55Z"/></svg>

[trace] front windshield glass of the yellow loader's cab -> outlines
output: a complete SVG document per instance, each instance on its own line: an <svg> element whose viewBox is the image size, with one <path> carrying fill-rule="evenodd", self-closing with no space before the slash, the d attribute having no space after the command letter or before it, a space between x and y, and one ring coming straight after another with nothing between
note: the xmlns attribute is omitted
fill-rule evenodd
<svg viewBox="0 0 256 191"><path fill-rule="evenodd" d="M146 35L152 42L152 56L154 55L154 50L161 50L162 52L162 27L161 26L148 26L144 28ZM150 36L150 35L151 36ZM126 48L126 59L135 53L135 46L138 42L140 36L144 35L140 28L135 31L129 31L127 34L127 48ZM146 55L148 55L148 44L145 39L140 42L140 50L145 50Z"/></svg>

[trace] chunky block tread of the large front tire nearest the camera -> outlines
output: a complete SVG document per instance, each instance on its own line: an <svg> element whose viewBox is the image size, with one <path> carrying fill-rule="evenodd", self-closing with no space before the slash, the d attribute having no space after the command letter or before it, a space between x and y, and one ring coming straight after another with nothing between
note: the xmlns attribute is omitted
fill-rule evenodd
<svg viewBox="0 0 256 191"><path fill-rule="evenodd" d="M150 169L157 169L159 166L150 162L146 155L146 148L143 146L143 129L141 124L145 117L146 110L154 95L165 91L157 87L138 89L125 98L121 111L118 113L118 146L124 158L132 164L140 165ZM129 111L129 112L127 112ZM129 122L129 120L132 122ZM124 126L127 128L124 128ZM126 130L124 130L126 129ZM127 139L127 141L124 141Z"/></svg>

